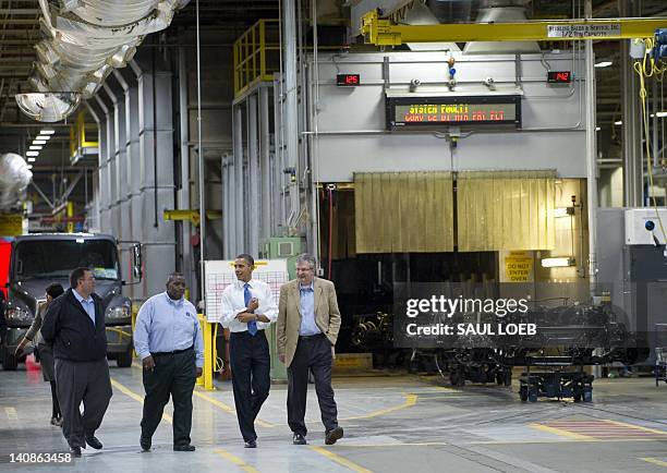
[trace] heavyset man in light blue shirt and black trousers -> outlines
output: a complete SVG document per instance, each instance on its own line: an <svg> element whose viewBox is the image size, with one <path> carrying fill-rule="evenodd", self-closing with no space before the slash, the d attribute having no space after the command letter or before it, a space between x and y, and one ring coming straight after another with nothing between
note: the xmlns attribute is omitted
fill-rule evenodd
<svg viewBox="0 0 667 473"><path fill-rule="evenodd" d="M138 312L134 349L144 366L144 415L140 445L150 450L169 395L173 402L173 450L194 451L190 444L192 392L204 366L204 339L197 312L185 300L185 279L172 272L167 291L148 299Z"/></svg>

